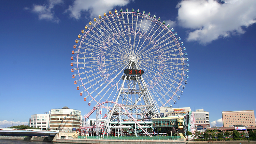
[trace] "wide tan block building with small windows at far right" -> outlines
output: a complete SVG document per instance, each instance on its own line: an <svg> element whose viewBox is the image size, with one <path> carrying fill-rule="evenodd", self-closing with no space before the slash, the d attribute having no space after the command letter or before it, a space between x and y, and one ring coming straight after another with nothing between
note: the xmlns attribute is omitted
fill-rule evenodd
<svg viewBox="0 0 256 144"><path fill-rule="evenodd" d="M254 110L222 112L224 127L255 125Z"/></svg>

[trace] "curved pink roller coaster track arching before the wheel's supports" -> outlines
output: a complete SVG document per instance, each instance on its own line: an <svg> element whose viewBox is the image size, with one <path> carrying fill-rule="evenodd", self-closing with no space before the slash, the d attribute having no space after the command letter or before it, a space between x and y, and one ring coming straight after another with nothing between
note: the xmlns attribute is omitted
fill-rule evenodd
<svg viewBox="0 0 256 144"><path fill-rule="evenodd" d="M148 136L152 137L152 135L150 135L146 130L144 130L141 125L138 123L138 121L122 106L122 104L119 104L119 103L116 103L114 101L104 101L102 103L99 103L97 104L95 107L93 107L93 109L88 112L86 115L84 115L84 118L88 118L91 114L93 114L93 112L99 107L101 106L102 104L105 104L105 103L114 103L120 107L122 107L123 110L125 110L125 112L135 121L135 123L140 127L140 129L145 132Z"/></svg>

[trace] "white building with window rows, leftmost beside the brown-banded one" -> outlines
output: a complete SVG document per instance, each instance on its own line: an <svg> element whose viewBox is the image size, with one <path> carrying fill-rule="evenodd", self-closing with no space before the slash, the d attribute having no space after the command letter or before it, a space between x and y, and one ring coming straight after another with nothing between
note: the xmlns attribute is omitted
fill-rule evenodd
<svg viewBox="0 0 256 144"><path fill-rule="evenodd" d="M49 113L31 115L29 125L33 128L46 130L49 127Z"/></svg>

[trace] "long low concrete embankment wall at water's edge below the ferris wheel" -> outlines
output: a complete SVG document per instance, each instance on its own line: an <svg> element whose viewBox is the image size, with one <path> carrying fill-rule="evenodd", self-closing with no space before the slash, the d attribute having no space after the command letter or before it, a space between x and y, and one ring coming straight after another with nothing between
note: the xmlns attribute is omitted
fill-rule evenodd
<svg viewBox="0 0 256 144"><path fill-rule="evenodd" d="M76 140L76 139L57 139L58 143L85 143L85 144L185 144L184 141L173 140Z"/></svg>

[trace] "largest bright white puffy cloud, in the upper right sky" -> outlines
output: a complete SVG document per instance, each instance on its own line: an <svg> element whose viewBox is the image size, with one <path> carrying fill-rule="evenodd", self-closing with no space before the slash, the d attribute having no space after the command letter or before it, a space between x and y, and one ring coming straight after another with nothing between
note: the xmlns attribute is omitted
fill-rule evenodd
<svg viewBox="0 0 256 144"><path fill-rule="evenodd" d="M256 23L255 0L183 0L177 4L178 21L191 29L188 41L207 44L218 38L243 34L242 27Z"/></svg>

